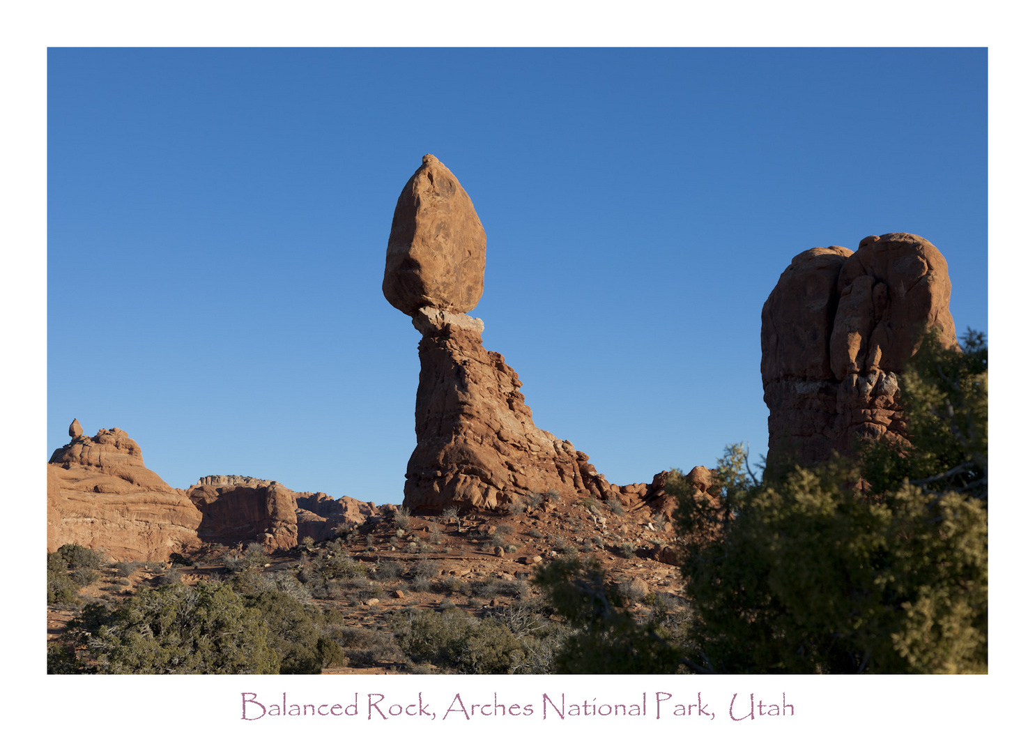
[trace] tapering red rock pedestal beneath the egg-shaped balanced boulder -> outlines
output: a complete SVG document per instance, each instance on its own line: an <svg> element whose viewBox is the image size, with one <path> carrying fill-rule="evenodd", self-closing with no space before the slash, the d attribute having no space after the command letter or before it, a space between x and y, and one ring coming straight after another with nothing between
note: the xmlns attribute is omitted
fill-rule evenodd
<svg viewBox="0 0 1035 753"><path fill-rule="evenodd" d="M423 309L414 325L423 338L406 506L497 510L551 490L616 499L628 510L645 503L651 485L611 484L588 455L536 428L518 373L482 345L480 320Z"/></svg>

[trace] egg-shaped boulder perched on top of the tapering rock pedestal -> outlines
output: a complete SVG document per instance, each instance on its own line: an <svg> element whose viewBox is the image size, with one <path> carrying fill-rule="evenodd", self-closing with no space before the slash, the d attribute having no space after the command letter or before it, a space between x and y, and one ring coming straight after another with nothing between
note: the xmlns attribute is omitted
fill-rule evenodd
<svg viewBox="0 0 1035 753"><path fill-rule="evenodd" d="M400 194L382 291L408 316L423 307L466 313L481 298L485 231L470 197L434 154Z"/></svg>

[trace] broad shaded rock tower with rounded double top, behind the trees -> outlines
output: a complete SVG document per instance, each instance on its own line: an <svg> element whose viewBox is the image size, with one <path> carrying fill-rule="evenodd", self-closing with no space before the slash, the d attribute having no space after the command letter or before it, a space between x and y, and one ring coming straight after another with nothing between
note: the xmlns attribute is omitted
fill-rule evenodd
<svg viewBox="0 0 1035 753"><path fill-rule="evenodd" d="M945 257L908 233L798 254L762 309L771 471L905 436L898 374L935 327L956 346Z"/></svg>

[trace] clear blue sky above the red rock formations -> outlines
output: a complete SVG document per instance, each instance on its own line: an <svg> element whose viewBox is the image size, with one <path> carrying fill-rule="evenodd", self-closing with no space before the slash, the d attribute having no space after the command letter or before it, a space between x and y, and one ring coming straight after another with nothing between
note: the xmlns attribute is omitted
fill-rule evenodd
<svg viewBox="0 0 1035 753"><path fill-rule="evenodd" d="M419 336L381 293L426 152L489 238L472 312L609 480L766 452L791 258L910 232L987 330L987 65L965 50L52 50L48 456L402 499Z"/></svg>

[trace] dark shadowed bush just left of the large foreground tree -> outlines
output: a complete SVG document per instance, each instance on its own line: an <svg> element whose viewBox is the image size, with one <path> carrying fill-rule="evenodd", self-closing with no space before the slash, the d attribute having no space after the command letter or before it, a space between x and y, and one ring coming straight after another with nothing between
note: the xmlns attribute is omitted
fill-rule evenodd
<svg viewBox="0 0 1035 753"><path fill-rule="evenodd" d="M572 628L554 657L556 671L574 674L672 673L679 648L655 622L640 625L623 608L621 589L595 559L558 559L536 570L535 584Z"/></svg>

